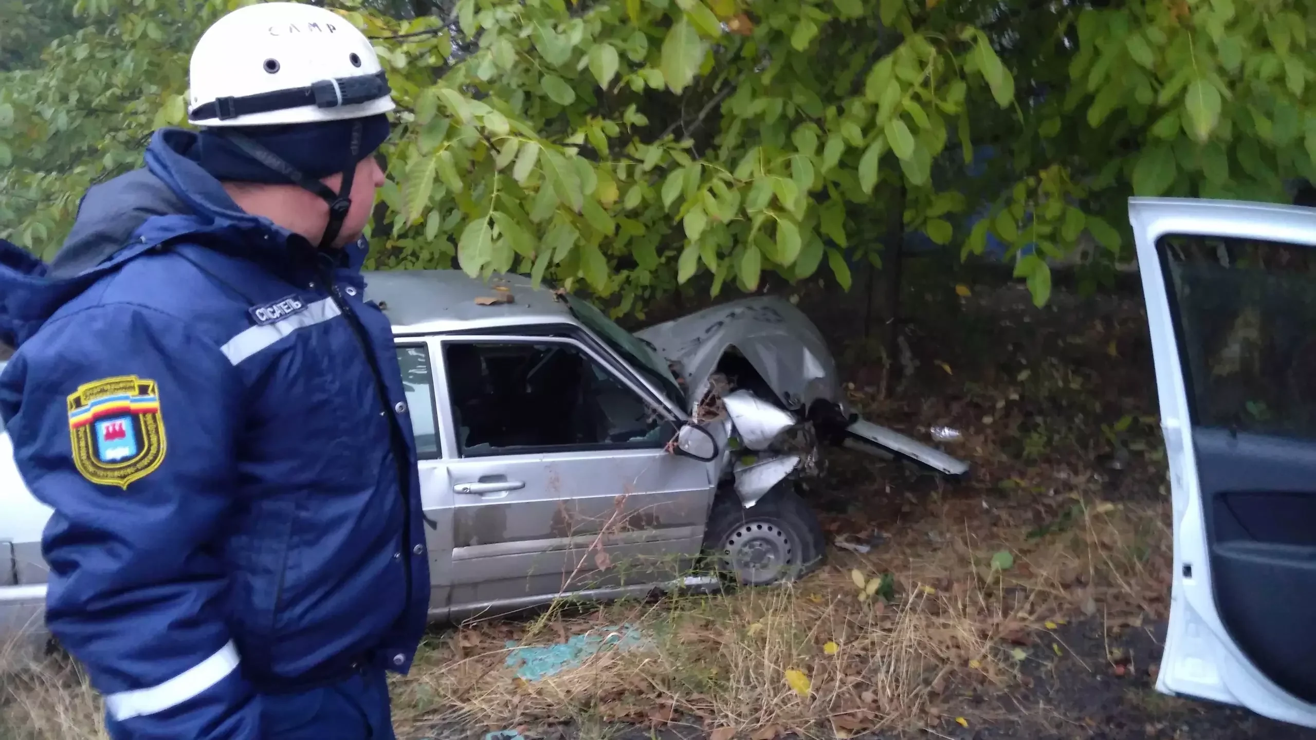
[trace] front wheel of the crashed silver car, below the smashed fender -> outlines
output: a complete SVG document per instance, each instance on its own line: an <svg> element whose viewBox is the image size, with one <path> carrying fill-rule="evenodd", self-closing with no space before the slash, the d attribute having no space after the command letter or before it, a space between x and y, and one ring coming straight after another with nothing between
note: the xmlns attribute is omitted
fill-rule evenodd
<svg viewBox="0 0 1316 740"><path fill-rule="evenodd" d="M740 586L796 581L822 562L824 548L817 516L790 483L749 508L734 491L719 492L704 528L709 568Z"/></svg>

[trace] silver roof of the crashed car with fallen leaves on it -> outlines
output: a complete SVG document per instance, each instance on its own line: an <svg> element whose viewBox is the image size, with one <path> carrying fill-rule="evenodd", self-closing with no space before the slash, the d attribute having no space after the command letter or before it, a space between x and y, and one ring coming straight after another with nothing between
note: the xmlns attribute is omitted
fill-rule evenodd
<svg viewBox="0 0 1316 740"><path fill-rule="evenodd" d="M459 270L366 271L366 299L380 302L395 333L442 333L525 324L579 324L567 304L522 275L488 282ZM499 290L499 288L507 288ZM476 299L511 295L512 303Z"/></svg>

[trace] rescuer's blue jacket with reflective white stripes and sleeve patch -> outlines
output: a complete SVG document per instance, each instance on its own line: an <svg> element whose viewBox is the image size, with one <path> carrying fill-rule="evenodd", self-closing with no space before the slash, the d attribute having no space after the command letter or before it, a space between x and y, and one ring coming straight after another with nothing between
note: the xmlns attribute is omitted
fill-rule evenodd
<svg viewBox="0 0 1316 740"><path fill-rule="evenodd" d="M157 132L51 265L0 242L0 415L54 508L46 620L114 737L259 737L262 693L408 670L429 599L363 249L242 212L195 144Z"/></svg>

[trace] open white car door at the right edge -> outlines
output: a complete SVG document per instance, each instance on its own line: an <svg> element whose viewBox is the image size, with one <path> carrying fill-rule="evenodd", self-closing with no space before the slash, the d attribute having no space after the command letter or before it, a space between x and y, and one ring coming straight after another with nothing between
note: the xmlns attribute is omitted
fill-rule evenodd
<svg viewBox="0 0 1316 740"><path fill-rule="evenodd" d="M1316 727L1316 209L1132 199L1174 510L1157 687Z"/></svg>

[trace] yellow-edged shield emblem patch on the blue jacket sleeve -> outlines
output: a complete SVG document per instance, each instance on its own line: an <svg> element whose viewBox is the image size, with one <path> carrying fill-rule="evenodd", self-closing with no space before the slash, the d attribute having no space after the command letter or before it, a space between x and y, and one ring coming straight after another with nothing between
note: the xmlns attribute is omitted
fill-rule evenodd
<svg viewBox="0 0 1316 740"><path fill-rule="evenodd" d="M164 423L155 381L118 375L68 396L74 463L92 483L126 489L164 461Z"/></svg>

